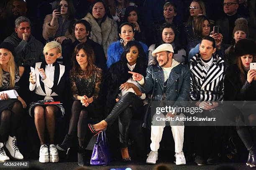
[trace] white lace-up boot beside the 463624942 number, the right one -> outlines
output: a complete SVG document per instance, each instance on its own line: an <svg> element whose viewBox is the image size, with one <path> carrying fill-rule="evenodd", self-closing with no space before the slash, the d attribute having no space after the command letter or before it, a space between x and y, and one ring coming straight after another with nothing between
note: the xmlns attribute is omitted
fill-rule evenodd
<svg viewBox="0 0 256 170"><path fill-rule="evenodd" d="M8 140L5 142L5 148L10 153L10 156L15 160L23 160L23 155L20 153L17 147L16 137L9 136Z"/></svg>

